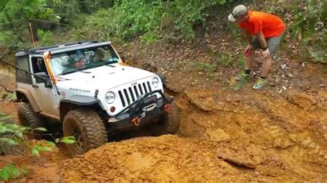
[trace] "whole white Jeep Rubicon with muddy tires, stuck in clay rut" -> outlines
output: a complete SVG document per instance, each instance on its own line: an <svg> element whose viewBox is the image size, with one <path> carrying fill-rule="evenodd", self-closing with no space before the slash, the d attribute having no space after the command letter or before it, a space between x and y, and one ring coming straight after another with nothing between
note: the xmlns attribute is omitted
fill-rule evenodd
<svg viewBox="0 0 327 183"><path fill-rule="evenodd" d="M76 139L67 144L72 154L99 147L109 133L150 122L166 133L179 128L179 113L164 95L161 78L124 65L110 42L54 45L15 56L21 125L63 122L63 136Z"/></svg>

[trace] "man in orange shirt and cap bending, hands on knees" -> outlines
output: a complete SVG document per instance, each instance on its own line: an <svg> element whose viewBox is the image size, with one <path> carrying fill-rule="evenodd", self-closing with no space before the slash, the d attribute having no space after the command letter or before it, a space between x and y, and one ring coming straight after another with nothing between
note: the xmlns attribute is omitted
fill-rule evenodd
<svg viewBox="0 0 327 183"><path fill-rule="evenodd" d="M252 62L255 59L255 50L261 48L265 60L262 66L262 75L253 85L253 89L261 89L266 85L266 76L272 65L272 56L275 56L285 32L285 24L279 17L265 12L250 11L246 6L239 5L232 10L228 20L237 22L244 30L248 45L246 46L245 71L237 76L237 80L244 80L250 76Z"/></svg>

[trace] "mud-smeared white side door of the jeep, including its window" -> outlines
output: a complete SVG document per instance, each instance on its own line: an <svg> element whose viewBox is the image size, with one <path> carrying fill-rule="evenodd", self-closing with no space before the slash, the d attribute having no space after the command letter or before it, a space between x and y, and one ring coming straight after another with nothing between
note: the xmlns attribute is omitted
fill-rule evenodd
<svg viewBox="0 0 327 183"><path fill-rule="evenodd" d="M54 119L59 119L59 94L52 85L48 76L48 69L42 56L31 55L30 67L33 74L42 77L32 76L32 95L41 109L41 114ZM45 75L45 76L44 76Z"/></svg>

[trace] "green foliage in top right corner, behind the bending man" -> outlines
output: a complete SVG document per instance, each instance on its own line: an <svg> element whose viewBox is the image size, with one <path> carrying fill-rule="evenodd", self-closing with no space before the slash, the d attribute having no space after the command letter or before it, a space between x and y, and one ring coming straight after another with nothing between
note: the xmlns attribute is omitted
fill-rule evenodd
<svg viewBox="0 0 327 183"><path fill-rule="evenodd" d="M326 15L324 0L291 1L275 3L265 11L278 14L288 25L290 39L299 42L301 55L308 55L314 62L327 62ZM280 7L284 7L280 8Z"/></svg>

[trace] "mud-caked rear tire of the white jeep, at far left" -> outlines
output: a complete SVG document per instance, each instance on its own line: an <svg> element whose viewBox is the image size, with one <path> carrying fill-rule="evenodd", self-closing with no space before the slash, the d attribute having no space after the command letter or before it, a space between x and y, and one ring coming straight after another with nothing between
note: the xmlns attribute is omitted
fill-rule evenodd
<svg viewBox="0 0 327 183"><path fill-rule="evenodd" d="M36 129L45 126L43 122L43 118L39 114L34 112L32 105L30 105L30 103L19 103L19 106L17 107L17 115L18 115L19 123L23 127L30 127L32 129ZM36 131L36 132L41 133L41 131ZM37 138L37 137L38 137L37 135L29 136L29 138Z"/></svg>

